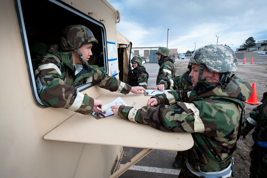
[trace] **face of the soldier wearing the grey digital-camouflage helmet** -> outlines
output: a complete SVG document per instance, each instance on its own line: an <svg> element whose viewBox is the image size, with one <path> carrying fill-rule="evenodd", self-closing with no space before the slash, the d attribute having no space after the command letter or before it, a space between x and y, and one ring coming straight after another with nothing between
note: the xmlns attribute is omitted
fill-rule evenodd
<svg viewBox="0 0 267 178"><path fill-rule="evenodd" d="M192 86L195 86L195 84L198 82L199 66L200 66L200 64L193 64L192 65L192 70L191 70L191 72L189 74L189 76L191 77L192 83L193 83ZM210 72L207 69L207 67L204 67L201 79L204 79L205 77L207 77L206 78L207 82L211 82L211 78L210 77L213 77L213 72Z"/></svg>

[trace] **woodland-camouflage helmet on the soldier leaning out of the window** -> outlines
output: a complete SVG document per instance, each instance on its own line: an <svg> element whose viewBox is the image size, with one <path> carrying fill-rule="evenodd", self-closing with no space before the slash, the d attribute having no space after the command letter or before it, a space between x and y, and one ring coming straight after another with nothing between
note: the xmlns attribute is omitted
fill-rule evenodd
<svg viewBox="0 0 267 178"><path fill-rule="evenodd" d="M65 27L61 33L61 49L64 51L81 47L87 43L97 43L92 31L84 25Z"/></svg>

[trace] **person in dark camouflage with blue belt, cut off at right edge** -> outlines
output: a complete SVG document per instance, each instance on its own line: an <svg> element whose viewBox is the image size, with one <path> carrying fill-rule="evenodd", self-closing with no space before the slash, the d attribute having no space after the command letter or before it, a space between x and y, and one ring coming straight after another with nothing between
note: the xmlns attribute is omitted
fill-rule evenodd
<svg viewBox="0 0 267 178"><path fill-rule="evenodd" d="M255 127L252 133L254 144L250 151L250 178L267 176L267 92L261 102L252 109L250 116L243 123L240 140Z"/></svg>

